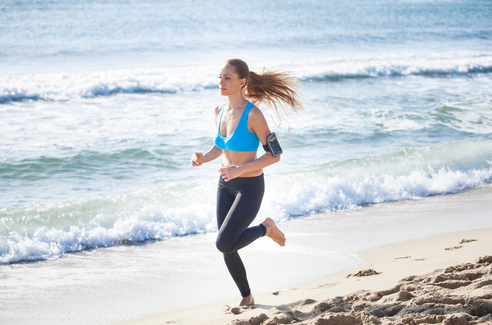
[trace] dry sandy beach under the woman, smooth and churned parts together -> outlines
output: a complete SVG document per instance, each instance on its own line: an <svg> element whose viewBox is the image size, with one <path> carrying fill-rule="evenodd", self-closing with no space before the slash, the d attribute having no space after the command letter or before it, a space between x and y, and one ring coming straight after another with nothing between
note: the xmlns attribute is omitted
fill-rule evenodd
<svg viewBox="0 0 492 325"><path fill-rule="evenodd" d="M391 211L426 211L424 217L443 213L484 216L492 211L491 194L490 187L485 187L396 205ZM121 325L492 323L492 228L405 241L358 256L363 264L357 269L257 294L252 307L238 308L234 307L237 301L226 301L166 311Z"/></svg>

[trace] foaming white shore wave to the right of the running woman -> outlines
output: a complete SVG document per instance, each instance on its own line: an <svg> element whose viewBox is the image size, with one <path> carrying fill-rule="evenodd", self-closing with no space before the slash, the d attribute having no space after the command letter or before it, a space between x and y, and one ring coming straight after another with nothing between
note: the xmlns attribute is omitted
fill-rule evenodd
<svg viewBox="0 0 492 325"><path fill-rule="evenodd" d="M288 219L458 193L491 182L492 140L454 141L278 177L271 186L280 193L267 200L268 213Z"/></svg>

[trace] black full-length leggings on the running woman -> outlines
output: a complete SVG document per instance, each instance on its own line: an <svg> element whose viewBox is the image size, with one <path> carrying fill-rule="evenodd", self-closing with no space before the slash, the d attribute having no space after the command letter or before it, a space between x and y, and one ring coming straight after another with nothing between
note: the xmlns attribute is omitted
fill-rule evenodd
<svg viewBox="0 0 492 325"><path fill-rule="evenodd" d="M243 297L251 294L246 269L238 250L265 236L266 228L260 224L249 227L260 210L265 192L263 174L256 177L219 180L217 190L217 248L224 253L227 269Z"/></svg>

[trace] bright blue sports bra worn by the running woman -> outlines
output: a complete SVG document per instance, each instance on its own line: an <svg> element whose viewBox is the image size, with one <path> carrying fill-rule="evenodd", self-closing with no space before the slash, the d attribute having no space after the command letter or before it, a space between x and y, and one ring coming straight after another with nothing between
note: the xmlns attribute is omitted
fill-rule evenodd
<svg viewBox="0 0 492 325"><path fill-rule="evenodd" d="M260 139L256 136L255 133L250 132L248 130L248 114L251 110L251 107L254 105L249 103L244 109L243 114L241 115L241 119L237 124L234 133L232 133L228 137L223 137L220 134L220 124L222 122L222 113L224 113L224 106L222 106L222 110L220 111L219 123L217 126L217 135L215 136L215 145L222 150L229 151L256 151L258 150L258 146L260 145Z"/></svg>

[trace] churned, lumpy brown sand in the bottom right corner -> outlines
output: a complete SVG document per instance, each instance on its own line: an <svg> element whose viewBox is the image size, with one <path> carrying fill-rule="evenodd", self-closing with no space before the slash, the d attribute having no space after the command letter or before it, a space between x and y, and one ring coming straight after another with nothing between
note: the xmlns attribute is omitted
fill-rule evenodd
<svg viewBox="0 0 492 325"><path fill-rule="evenodd" d="M375 275L383 276L383 275ZM383 291L276 306L229 325L492 324L492 256L410 276Z"/></svg>

